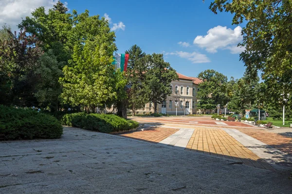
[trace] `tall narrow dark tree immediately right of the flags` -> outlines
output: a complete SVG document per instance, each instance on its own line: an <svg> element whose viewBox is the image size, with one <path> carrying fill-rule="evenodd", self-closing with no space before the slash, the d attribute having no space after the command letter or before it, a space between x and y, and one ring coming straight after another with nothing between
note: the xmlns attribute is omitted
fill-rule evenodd
<svg viewBox="0 0 292 194"><path fill-rule="evenodd" d="M128 108L132 110L132 115L135 115L137 109L144 108L148 100L148 94L145 91L146 81L146 54L142 49L133 45L129 50L126 50L129 54L128 60Z"/></svg>

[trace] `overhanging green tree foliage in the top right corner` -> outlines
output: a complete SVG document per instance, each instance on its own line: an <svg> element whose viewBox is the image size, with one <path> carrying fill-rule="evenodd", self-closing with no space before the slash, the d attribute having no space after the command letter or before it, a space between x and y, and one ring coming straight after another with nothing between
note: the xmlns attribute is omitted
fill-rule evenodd
<svg viewBox="0 0 292 194"><path fill-rule="evenodd" d="M243 22L240 54L248 75L261 78L267 85L269 100L277 101L283 90L292 93L292 7L291 0L214 0L210 9L233 14L232 24Z"/></svg>

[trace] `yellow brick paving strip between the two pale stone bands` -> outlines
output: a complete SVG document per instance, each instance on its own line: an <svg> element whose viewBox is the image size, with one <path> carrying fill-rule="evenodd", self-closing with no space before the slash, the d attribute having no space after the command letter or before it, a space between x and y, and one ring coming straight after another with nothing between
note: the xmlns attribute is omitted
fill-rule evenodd
<svg viewBox="0 0 292 194"><path fill-rule="evenodd" d="M264 162L255 153L240 144L222 129L196 128L186 149L241 160L246 165L274 170L272 166Z"/></svg>

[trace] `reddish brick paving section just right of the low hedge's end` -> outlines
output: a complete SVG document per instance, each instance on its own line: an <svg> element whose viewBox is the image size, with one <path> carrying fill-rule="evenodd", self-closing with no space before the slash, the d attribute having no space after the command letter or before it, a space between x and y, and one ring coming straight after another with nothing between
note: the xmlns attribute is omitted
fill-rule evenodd
<svg viewBox="0 0 292 194"><path fill-rule="evenodd" d="M138 139L151 143L158 143L164 140L166 137L177 132L179 129L171 128L151 128L144 131L134 131L130 133L121 134L121 136Z"/></svg>

